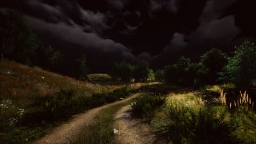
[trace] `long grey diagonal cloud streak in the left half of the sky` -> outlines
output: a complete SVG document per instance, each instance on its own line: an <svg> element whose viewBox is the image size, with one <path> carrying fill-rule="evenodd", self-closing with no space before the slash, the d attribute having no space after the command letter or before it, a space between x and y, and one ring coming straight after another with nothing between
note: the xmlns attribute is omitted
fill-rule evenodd
<svg viewBox="0 0 256 144"><path fill-rule="evenodd" d="M126 61L137 61L138 58L132 55L131 50L120 43L110 39L102 39L95 33L85 33L78 26L68 26L65 23L48 23L35 17L27 16L29 23L40 34L47 34L50 39L60 39L66 43L77 44L83 47L84 51L94 51L110 55L122 56ZM114 58L114 57L113 57Z"/></svg>

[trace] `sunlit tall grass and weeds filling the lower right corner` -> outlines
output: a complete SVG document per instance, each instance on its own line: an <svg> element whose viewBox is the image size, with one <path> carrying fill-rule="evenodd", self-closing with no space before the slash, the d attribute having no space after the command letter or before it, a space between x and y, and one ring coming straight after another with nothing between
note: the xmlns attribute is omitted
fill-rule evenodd
<svg viewBox="0 0 256 144"><path fill-rule="evenodd" d="M166 117L153 118L151 125L157 135L174 143L255 143L253 102L246 92L240 94L236 105L227 105L229 95L223 89L215 105L205 105L200 97L191 103L188 95L174 95Z"/></svg>

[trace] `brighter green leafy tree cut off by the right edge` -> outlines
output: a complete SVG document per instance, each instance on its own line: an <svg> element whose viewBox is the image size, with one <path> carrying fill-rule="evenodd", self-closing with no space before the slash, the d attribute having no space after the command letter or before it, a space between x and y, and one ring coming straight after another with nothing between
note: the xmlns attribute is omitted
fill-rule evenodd
<svg viewBox="0 0 256 144"><path fill-rule="evenodd" d="M237 87L248 87L256 79L256 46L245 41L235 46L233 57L228 58L228 65L219 73L219 80L233 82Z"/></svg>

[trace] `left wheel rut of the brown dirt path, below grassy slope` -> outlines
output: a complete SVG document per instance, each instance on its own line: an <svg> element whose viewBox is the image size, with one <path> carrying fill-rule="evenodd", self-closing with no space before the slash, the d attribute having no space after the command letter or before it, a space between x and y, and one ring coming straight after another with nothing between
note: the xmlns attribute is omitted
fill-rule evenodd
<svg viewBox="0 0 256 144"><path fill-rule="evenodd" d="M139 96L139 93L132 95L131 97L124 99L122 101L117 101L112 104L107 104L104 106L97 107L95 109L86 111L85 113L75 115L73 116L73 119L69 121L68 123L60 125L60 127L55 128L53 131L51 131L48 135L45 135L41 139L34 142L34 144L42 143L70 143L70 141L75 140L77 134L85 125L89 125L93 122L94 117L97 115L97 113L106 107L117 105L120 103L124 103L126 101L129 101L133 98L136 98Z"/></svg>

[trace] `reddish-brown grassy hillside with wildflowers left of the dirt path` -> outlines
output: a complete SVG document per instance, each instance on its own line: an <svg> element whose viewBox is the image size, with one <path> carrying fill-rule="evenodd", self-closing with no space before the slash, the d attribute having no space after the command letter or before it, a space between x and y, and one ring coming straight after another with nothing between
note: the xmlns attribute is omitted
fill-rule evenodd
<svg viewBox="0 0 256 144"><path fill-rule="evenodd" d="M3 143L30 143L70 115L112 102L118 95L129 94L129 89L144 85L94 84L10 61L0 61L0 82Z"/></svg>

